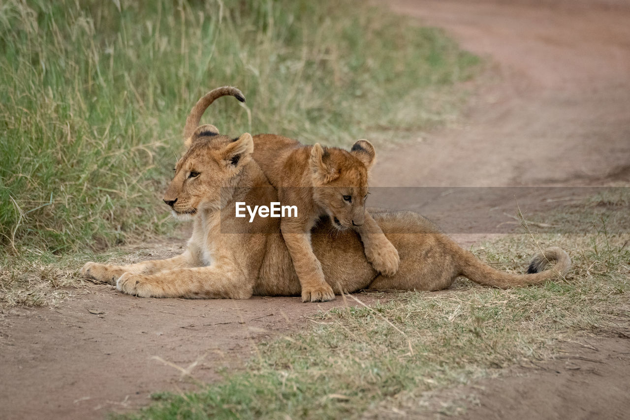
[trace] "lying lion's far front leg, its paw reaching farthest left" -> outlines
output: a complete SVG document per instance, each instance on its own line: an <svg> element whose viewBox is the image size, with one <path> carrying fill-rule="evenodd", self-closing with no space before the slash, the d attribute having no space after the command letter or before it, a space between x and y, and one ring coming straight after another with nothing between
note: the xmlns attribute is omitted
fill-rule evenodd
<svg viewBox="0 0 630 420"><path fill-rule="evenodd" d="M109 285L116 285L116 281L125 273L135 274L154 274L159 271L173 270L175 268L184 268L190 266L186 254L176 256L169 259L154 259L151 261L143 261L137 264L127 264L124 266L115 266L110 264L100 264L89 262L84 264L79 273L85 278L93 278Z"/></svg>

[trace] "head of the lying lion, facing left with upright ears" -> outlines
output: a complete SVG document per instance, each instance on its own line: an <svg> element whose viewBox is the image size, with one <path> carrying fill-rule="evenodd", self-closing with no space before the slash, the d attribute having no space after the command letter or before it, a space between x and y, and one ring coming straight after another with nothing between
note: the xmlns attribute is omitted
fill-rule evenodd
<svg viewBox="0 0 630 420"><path fill-rule="evenodd" d="M236 186L254 150L249 133L231 139L220 135L214 125L198 127L185 144L188 150L177 162L164 194L164 203L178 219L188 219L200 210L219 210L221 188Z"/></svg>

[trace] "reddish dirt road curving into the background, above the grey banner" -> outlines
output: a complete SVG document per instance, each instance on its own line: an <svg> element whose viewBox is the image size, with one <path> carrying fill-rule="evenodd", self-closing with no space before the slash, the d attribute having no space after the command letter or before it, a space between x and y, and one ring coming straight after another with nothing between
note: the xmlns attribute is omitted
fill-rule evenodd
<svg viewBox="0 0 630 420"><path fill-rule="evenodd" d="M424 142L403 147L404 153L381 154L375 184L589 185L630 179L626 1L391 4L445 28L462 48L496 65L458 127L428 133ZM396 171L401 166L413 171Z"/></svg>

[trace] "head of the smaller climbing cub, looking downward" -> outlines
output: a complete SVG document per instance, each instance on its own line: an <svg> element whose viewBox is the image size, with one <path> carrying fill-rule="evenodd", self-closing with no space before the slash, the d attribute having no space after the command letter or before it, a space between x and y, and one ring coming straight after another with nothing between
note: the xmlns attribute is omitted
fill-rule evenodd
<svg viewBox="0 0 630 420"><path fill-rule="evenodd" d="M368 173L375 160L376 152L367 140L358 140L350 152L319 143L312 147L313 199L337 229L364 224Z"/></svg>

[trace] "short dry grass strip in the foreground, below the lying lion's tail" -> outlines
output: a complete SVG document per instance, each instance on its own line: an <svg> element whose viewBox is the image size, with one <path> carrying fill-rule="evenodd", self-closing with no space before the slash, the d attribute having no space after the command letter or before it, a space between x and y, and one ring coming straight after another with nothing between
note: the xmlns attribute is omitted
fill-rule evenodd
<svg viewBox="0 0 630 420"><path fill-rule="evenodd" d="M555 213L563 209L547 216ZM497 290L460 280L445 292L391 293L369 309L330 310L307 331L258 344L245 372L201 392L156 394L153 406L121 418L352 419L409 407L421 414L424 392L440 395L501 368L545 360L559 340L621 331L630 321L629 242L630 234L602 230L483 244L473 251L501 270L522 273L547 246L563 247L573 268L566 281L539 287Z"/></svg>

